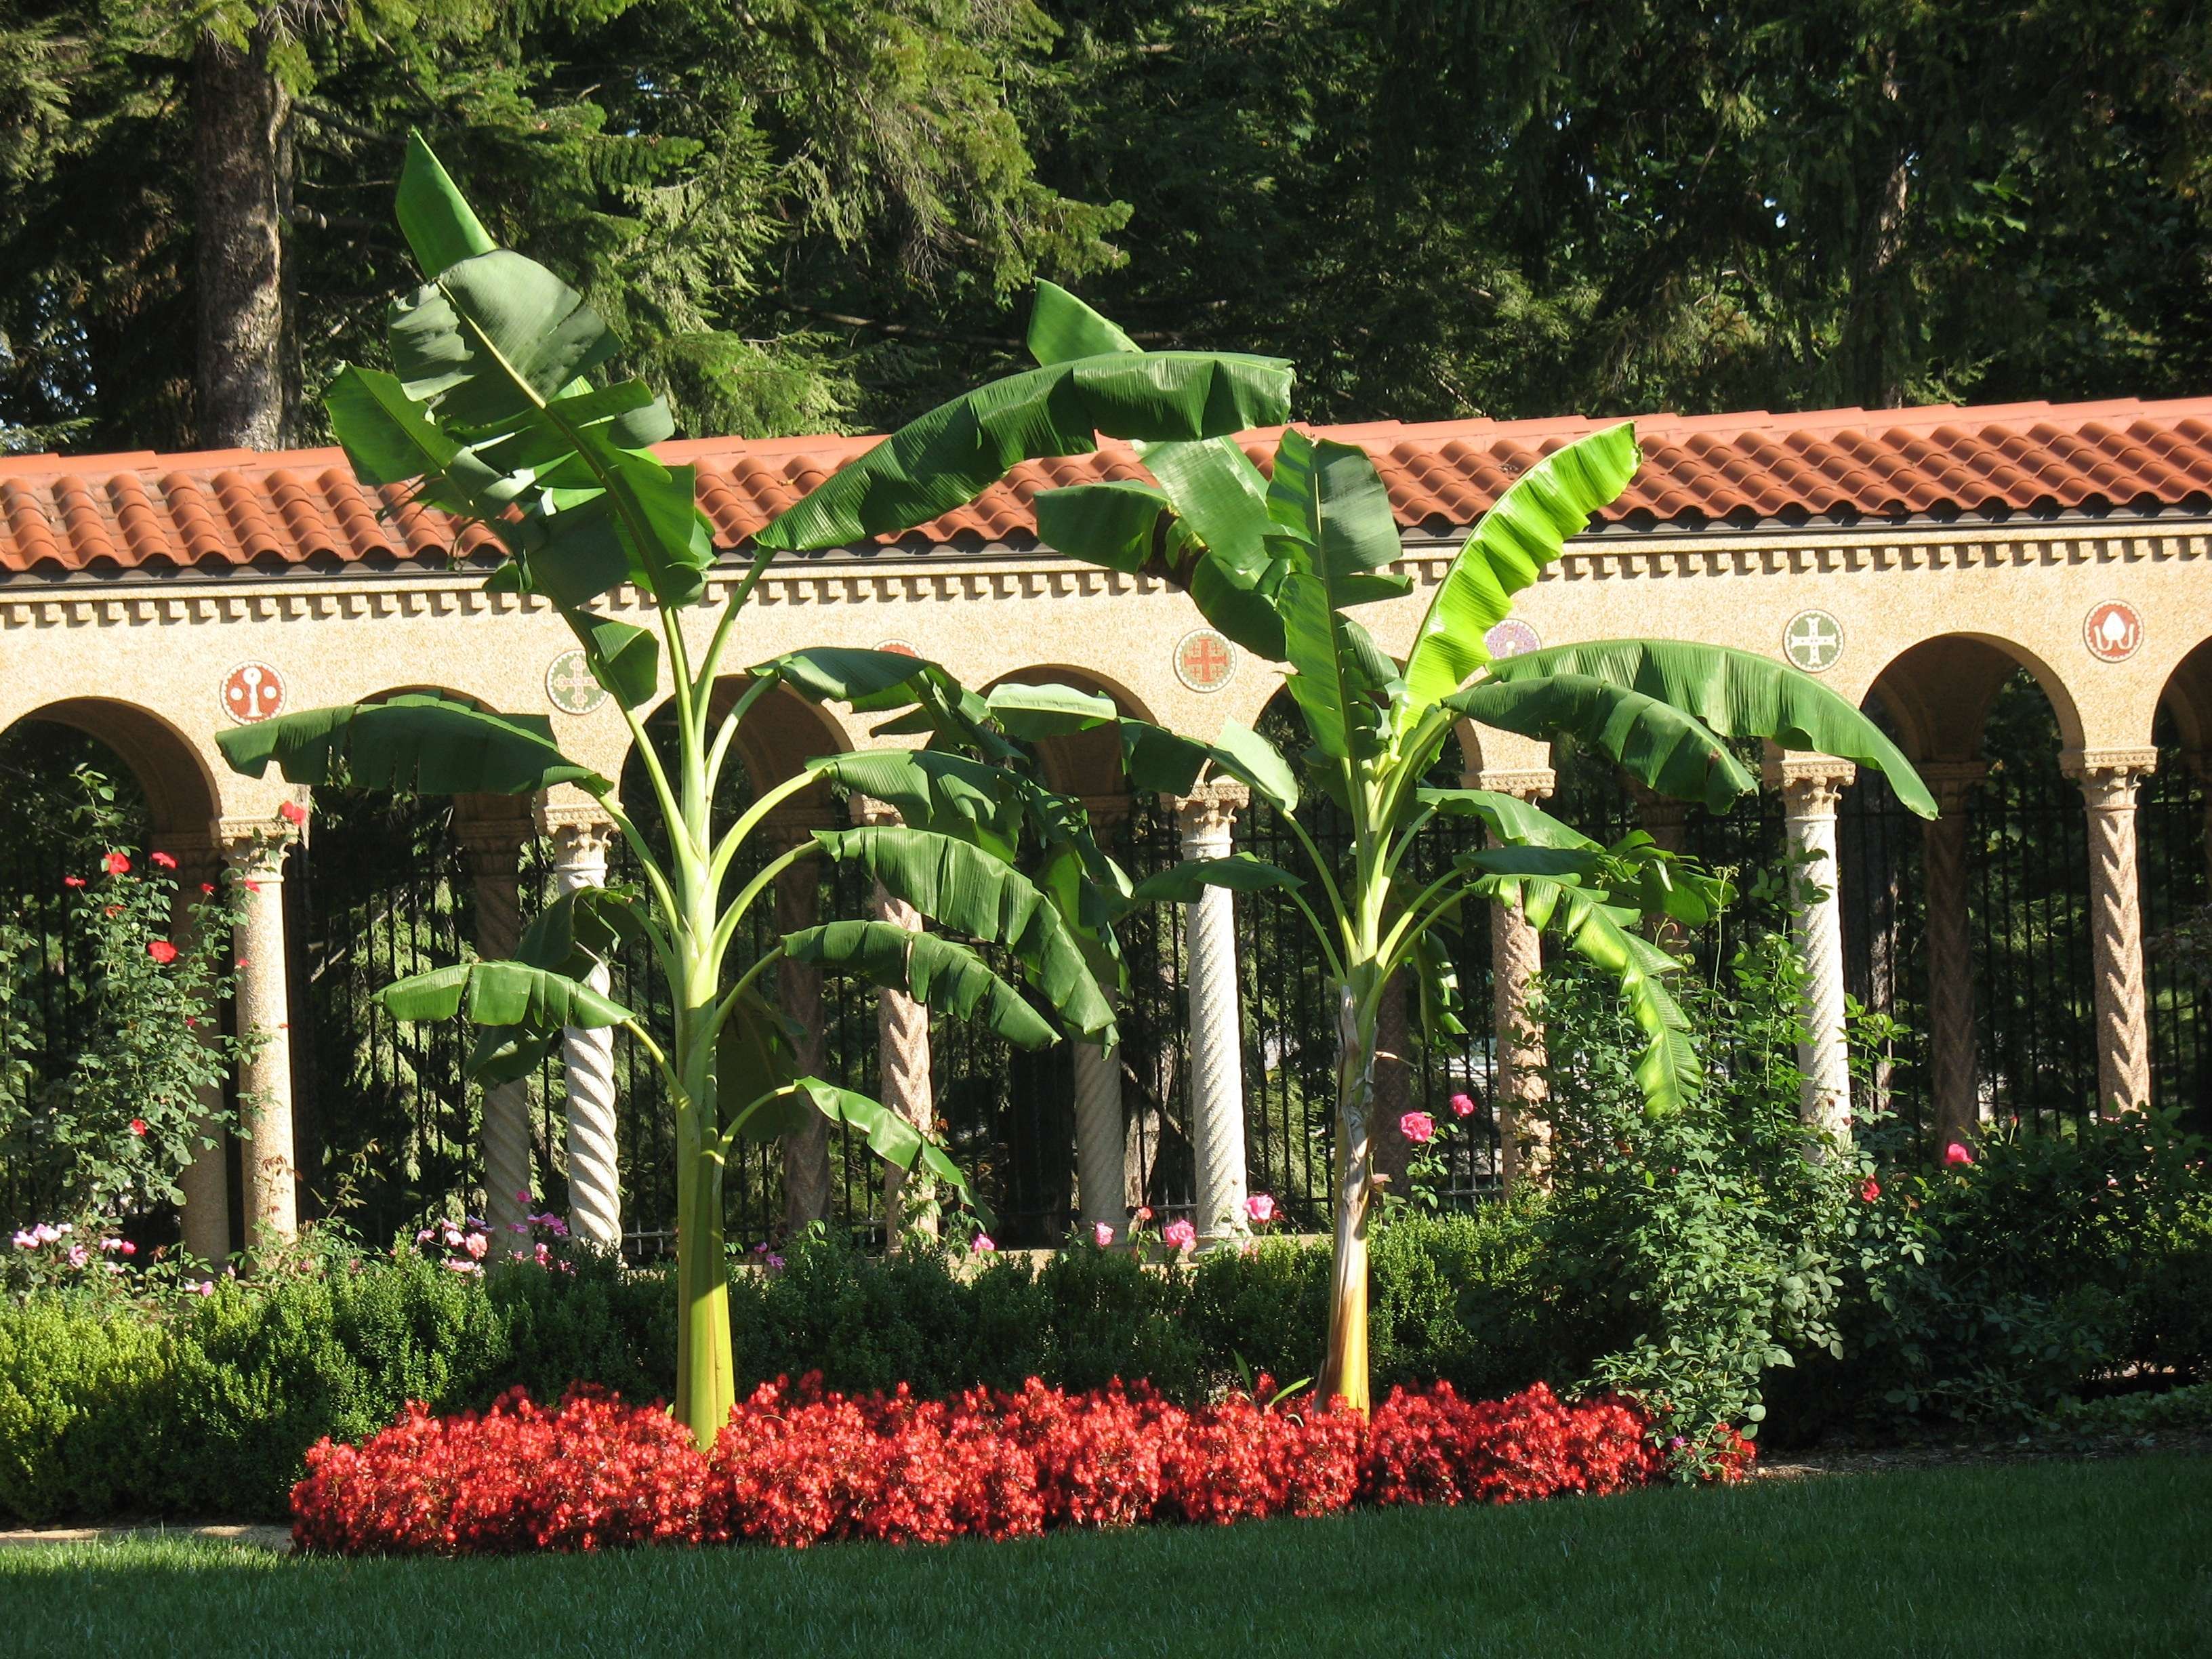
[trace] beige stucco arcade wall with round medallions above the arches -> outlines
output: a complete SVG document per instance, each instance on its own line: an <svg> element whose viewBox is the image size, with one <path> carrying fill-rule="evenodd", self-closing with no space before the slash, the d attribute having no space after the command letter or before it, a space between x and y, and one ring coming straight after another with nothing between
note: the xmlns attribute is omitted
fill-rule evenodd
<svg viewBox="0 0 2212 1659"><path fill-rule="evenodd" d="M1820 608L1845 635L1823 681L1854 701L1913 646L1980 639L2039 677L2068 748L2139 750L2177 666L2212 639L2208 538L2212 522L2179 518L1610 533L1573 544L1522 595L1520 617L1542 644L1661 635L1778 657L1787 622ZM1449 542L1409 542L1405 568L1418 591L1360 613L1385 648L1402 655L1449 555ZM717 584L717 599L723 593ZM2088 613L2108 599L2143 619L2139 648L2117 664L2099 661L2084 639ZM613 608L635 619L635 602ZM692 613L688 626L703 644L712 613ZM1075 672L1150 719L1206 737L1223 719L1252 721L1281 679L1272 664L1239 655L1225 686L1192 690L1175 672L1175 648L1197 626L1181 593L1048 555L885 553L779 566L739 624L728 664L810 644L898 639L973 686ZM124 750L155 794L161 827L179 832L208 816L268 818L288 794L274 779L228 772L215 752L212 737L228 723L219 688L248 661L283 675L288 710L438 686L549 712L564 748L613 776L628 743L617 710L606 703L573 717L549 699L546 670L568 644L546 606L482 593L476 573L18 580L0 588L0 726L60 703L64 717ZM1933 730L1944 717L1942 686L1911 690L1927 703L1920 723ZM823 719L785 719L763 745L865 741L836 714ZM1933 737L1922 743L1938 745ZM1493 748L1491 765L1528 761L1526 745ZM752 759L781 770L801 754Z"/></svg>

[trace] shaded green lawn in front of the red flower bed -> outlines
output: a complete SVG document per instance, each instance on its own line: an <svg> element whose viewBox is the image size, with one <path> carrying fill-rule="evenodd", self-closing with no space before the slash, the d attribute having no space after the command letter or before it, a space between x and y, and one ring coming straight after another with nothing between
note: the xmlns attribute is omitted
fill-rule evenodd
<svg viewBox="0 0 2212 1659"><path fill-rule="evenodd" d="M807 1553L0 1551L13 1652L2203 1655L2212 1458Z"/></svg>

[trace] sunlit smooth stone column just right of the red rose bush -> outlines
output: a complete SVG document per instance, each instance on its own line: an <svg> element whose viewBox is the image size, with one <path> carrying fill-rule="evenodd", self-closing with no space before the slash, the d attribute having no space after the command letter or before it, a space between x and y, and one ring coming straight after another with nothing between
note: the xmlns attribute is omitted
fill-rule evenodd
<svg viewBox="0 0 2212 1659"><path fill-rule="evenodd" d="M239 1139L246 1144L246 1245L299 1232L299 1152L292 1141L292 998L283 936L283 852L268 823L226 818L223 863L246 887L232 929L239 951L239 1035L252 1046L239 1071Z"/></svg>

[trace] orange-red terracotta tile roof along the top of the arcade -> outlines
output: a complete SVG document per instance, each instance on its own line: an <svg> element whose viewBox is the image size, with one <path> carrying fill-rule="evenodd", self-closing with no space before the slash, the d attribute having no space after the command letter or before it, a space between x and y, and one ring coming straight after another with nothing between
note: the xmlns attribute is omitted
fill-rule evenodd
<svg viewBox="0 0 2212 1659"><path fill-rule="evenodd" d="M1449 420L1327 427L1365 445L1409 529L1473 522L1528 465L1606 425ZM2212 398L1978 409L1646 416L1644 469L1601 529L1708 529L2057 511L2212 511ZM737 544L874 438L695 438L699 502ZM1243 438L1261 460L1274 434ZM1035 546L1040 489L1141 478L1126 445L1015 467L902 546ZM887 538L894 540L894 538ZM445 560L453 524L354 482L336 449L0 458L0 573L261 568ZM491 555L482 529L458 551Z"/></svg>

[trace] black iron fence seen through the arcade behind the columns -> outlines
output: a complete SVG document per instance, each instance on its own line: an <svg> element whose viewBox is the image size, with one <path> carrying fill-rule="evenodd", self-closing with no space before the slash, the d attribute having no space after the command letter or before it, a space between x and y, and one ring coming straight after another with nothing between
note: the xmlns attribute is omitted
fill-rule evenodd
<svg viewBox="0 0 2212 1659"><path fill-rule="evenodd" d="M2168 739L2161 732L2161 739ZM2088 860L2079 790L2057 770L2057 732L2033 681L2000 697L1989 721L1991 768L1971 801L1969 918L1978 1011L1978 1088L1984 1110L2039 1124L2095 1106L2090 1018ZM1639 823L1608 768L1577 757L1559 763L1551 807L1599 836ZM1303 816L1303 814L1301 814ZM1310 832L1334 856L1343 827L1327 814ZM1113 825L1117 854L1141 878L1179 858L1177 823L1155 801L1133 801ZM1420 852L1440 869L1480 832L1438 825ZM1710 816L1690 810L1686 847L1714 867L1772 869L1781 856L1781 805L1772 794ZM1237 830L1239 845L1290 869L1305 849L1261 803ZM1900 1022L1876 1084L1913 1117L1927 1102L1927 960L1922 825L1878 776L1843 796L1840 867L1847 987L1865 1006ZM2203 783L2161 741L2161 765L2139 810L2154 1097L2212 1113L2212 1009L2197 978L2168 958L2159 936L2205 905L2208 845ZM0 887L15 925L38 936L46 973L7 1011L13 1042L33 1068L66 1048L71 1009L86 964L69 960L58 925L60 847L24 838L0 847ZM750 876L752 869L739 872ZM615 878L622 876L617 854ZM524 911L553 891L551 847L531 843L522 863ZM858 916L858 876L823 876L823 916ZM392 1237L438 1214L480 1179L480 1102L462 1084L467 1033L458 1024L398 1024L374 993L392 978L460 960L476 931L467 856L451 807L389 796L325 796L312 845L292 854L288 905L294 964L292 1046L299 1155L307 1210L345 1206L367 1237ZM770 922L763 907L759 927ZM1276 1197L1292 1221L1325 1214L1334 1006L1303 920L1285 907L1239 900L1248 1166L1254 1190ZM1478 1135L1460 1141L1451 1194L1473 1201L1495 1188L1489 1135L1495 1055L1489 1033L1489 925L1471 916L1449 936L1467 1002L1469 1035L1449 1053L1409 1051L1400 1082L1407 1104L1442 1108L1453 1093L1484 1106ZM1128 1183L1161 1214L1188 1212L1194 1168L1188 1133L1179 916L1155 909L1121 931L1130 993L1121 1011L1121 1082L1128 1108ZM761 940L745 942L761 949ZM650 1006L661 995L644 962L617 967L617 993ZM666 1015L666 1011L659 1011ZM823 1071L852 1088L876 1088L876 998L832 982L821 1009ZM940 1133L975 1172L998 1214L1002 1243L1053 1243L1075 1214L1073 1071L1068 1046L1026 1055L987 1031L938 1022L933 1082ZM657 1077L617 1042L619 1155L626 1225L655 1250L675 1219L672 1117ZM549 1062L531 1082L540 1190L566 1201L562 1168L562 1071ZM0 1168L0 1194L9 1172ZM783 1214L781 1150L745 1146L730 1175L732 1237L772 1239ZM832 1223L880 1237L880 1172L863 1148L832 1144Z"/></svg>

